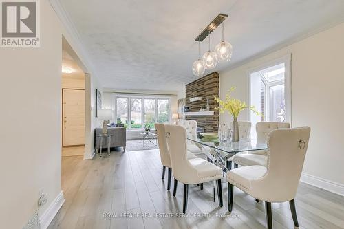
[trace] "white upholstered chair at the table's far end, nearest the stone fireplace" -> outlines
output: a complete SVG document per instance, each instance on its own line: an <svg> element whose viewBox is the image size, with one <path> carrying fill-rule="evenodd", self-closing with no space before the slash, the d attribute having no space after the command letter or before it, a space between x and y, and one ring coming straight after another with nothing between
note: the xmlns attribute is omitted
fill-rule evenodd
<svg viewBox="0 0 344 229"><path fill-rule="evenodd" d="M195 120L178 119L177 124L185 128L187 138L197 138L197 122ZM194 153L194 154L203 153L202 146L195 144L195 142L192 142L190 140L186 142L187 142L187 149L191 153Z"/></svg>

